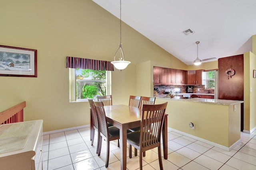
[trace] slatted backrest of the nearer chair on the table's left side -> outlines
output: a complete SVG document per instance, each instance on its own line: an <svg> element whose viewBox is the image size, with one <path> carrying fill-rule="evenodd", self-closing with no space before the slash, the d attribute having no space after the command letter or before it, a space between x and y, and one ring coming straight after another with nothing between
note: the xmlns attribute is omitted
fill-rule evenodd
<svg viewBox="0 0 256 170"><path fill-rule="evenodd" d="M94 101L94 105L96 107L96 112L98 115L100 133L102 133L102 135L104 135L107 138L108 137L108 123L106 121L106 113L105 113L103 102L102 101Z"/></svg>

